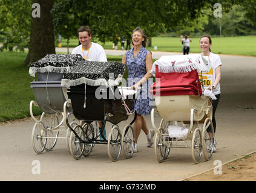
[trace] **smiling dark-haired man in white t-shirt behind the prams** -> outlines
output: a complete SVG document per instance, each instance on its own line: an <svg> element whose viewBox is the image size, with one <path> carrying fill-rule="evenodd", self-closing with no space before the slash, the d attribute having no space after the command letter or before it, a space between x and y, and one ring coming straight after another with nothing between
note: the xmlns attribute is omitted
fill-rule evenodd
<svg viewBox="0 0 256 193"><path fill-rule="evenodd" d="M85 60L91 60L96 62L107 62L107 56L104 49L98 43L91 42L91 29L88 26L82 25L77 30L79 46L73 49L71 54L80 54ZM102 122L98 121L99 130L102 128ZM84 122L82 123L84 124ZM106 130L103 129L103 135L107 138ZM100 136L100 140L103 138Z"/></svg>

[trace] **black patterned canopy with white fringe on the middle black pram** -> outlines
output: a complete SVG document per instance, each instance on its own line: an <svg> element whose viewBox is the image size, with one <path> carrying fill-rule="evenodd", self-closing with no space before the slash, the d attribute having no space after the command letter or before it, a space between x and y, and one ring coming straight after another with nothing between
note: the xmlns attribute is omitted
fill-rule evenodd
<svg viewBox="0 0 256 193"><path fill-rule="evenodd" d="M64 74L61 84L67 88L79 84L116 86L121 81L124 72L123 63L84 60L72 66L70 71Z"/></svg>

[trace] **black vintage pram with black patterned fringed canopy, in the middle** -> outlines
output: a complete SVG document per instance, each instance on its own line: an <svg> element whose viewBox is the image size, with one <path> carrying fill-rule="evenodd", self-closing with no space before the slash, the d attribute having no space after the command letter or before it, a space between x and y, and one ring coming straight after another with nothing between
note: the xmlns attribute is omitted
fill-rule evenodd
<svg viewBox="0 0 256 193"><path fill-rule="evenodd" d="M131 158L134 151L134 131L131 126L136 120L136 112L131 112L136 92L128 87L118 87L125 71L125 65L117 62L79 62L70 72L64 74L62 86L67 87L73 112L68 113L66 122L70 128L70 151L74 159L88 156L95 144L107 144L108 156L116 161L122 150L126 158ZM127 92L128 91L128 92ZM122 93L122 95L121 95ZM126 93L126 99L125 99ZM76 119L85 122L71 127L68 117L74 114ZM126 125L121 134L117 124L135 115L133 121ZM113 127L106 139L100 130L95 134L91 122L101 121L102 128L106 122ZM97 129L96 129L97 131ZM99 136L102 139L98 139Z"/></svg>

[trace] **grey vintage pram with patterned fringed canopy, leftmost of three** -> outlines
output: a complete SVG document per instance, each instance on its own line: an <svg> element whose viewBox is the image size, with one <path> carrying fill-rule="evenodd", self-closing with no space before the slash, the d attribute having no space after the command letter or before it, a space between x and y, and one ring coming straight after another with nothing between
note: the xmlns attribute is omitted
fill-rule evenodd
<svg viewBox="0 0 256 193"><path fill-rule="evenodd" d="M38 62L31 64L29 73L31 76L38 75L38 80L30 83L34 91L36 101L30 101L30 115L35 121L31 133L31 142L34 151L41 154L53 150L57 139L65 139L69 149L70 130L65 124L67 112L72 108L67 106L67 89L61 86L61 80L70 67L84 60L79 54L47 54ZM33 115L33 105L42 110L40 119ZM60 121L61 119L61 121ZM79 121L70 117L72 127ZM61 133L60 133L61 132ZM66 132L63 137L59 136Z"/></svg>

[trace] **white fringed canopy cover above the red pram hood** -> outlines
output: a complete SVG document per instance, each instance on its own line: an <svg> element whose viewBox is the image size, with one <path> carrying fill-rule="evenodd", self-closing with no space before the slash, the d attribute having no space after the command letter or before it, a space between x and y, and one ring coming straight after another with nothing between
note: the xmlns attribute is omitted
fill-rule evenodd
<svg viewBox="0 0 256 193"><path fill-rule="evenodd" d="M211 69L211 62L208 56L201 54L189 55L163 55L159 60L154 62L151 74L156 75L156 66L159 72L191 72L195 69L200 71L209 71Z"/></svg>

